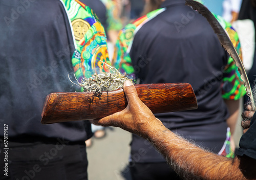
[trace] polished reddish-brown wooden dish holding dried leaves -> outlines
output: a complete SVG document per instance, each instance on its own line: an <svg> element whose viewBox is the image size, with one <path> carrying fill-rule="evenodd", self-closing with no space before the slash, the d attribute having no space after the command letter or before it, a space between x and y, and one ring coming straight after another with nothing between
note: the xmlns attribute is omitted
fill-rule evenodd
<svg viewBox="0 0 256 180"><path fill-rule="evenodd" d="M196 109L197 99L188 83L135 85L141 101L154 114ZM127 100L123 89L113 92L52 93L46 97L42 124L93 120L123 110Z"/></svg>

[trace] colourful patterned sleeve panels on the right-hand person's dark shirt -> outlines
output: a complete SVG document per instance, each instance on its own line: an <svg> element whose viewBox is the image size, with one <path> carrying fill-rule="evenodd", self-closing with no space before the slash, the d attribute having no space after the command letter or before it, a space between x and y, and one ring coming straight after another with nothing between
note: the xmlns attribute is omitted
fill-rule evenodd
<svg viewBox="0 0 256 180"><path fill-rule="evenodd" d="M148 13L135 20L132 24L126 25L118 35L115 46L114 58L112 64L119 69L121 73L135 77L135 70L132 66L132 60L129 55L130 47L132 46L133 37L143 24L151 20L165 9L158 9ZM242 58L242 50L237 32L232 28L229 22L226 22L221 16L216 16L222 27L227 31L233 46L238 51L240 58ZM222 83L222 98L238 100L246 94L245 86L241 80L241 75L238 71L233 59L229 57L227 66L223 72Z"/></svg>

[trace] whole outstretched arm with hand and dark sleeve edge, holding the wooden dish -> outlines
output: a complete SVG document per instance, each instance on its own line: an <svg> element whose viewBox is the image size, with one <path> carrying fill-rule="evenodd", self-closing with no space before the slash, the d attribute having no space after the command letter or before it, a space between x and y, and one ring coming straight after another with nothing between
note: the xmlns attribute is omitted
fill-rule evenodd
<svg viewBox="0 0 256 180"><path fill-rule="evenodd" d="M94 120L102 126L116 126L150 141L169 165L184 179L256 179L256 161L246 156L228 159L206 151L167 129L143 104L134 85L125 81L127 107L111 116Z"/></svg>

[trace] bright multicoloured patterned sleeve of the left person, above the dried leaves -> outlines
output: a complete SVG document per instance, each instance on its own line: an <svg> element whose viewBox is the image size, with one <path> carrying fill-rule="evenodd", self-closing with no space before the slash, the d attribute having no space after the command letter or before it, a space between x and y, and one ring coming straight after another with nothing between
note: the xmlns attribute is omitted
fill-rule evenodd
<svg viewBox="0 0 256 180"><path fill-rule="evenodd" d="M92 9L77 0L62 0L67 8L76 41L72 65L78 82L83 77L108 72L110 64L106 35L103 26Z"/></svg>

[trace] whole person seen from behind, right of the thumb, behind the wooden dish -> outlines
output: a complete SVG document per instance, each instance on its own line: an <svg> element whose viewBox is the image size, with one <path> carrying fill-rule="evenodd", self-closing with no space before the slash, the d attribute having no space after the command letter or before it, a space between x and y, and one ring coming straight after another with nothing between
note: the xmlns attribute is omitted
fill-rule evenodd
<svg viewBox="0 0 256 180"><path fill-rule="evenodd" d="M162 3L162 1L152 1L152 5L156 2ZM232 156L234 147L230 150L229 144L232 140L227 141L229 148L223 149L226 133L230 135L226 127L228 124L232 134L238 117L239 99L245 94L244 86L239 83L240 79L237 78L239 73L234 62L221 47L206 19L200 14L193 14L194 18L190 19L182 16L190 12L184 2L163 1L160 9L140 17L121 30L117 42L117 49L120 51L115 53L117 60L113 63L121 72L134 74L139 83L190 83L199 102L197 110L155 116L167 128L196 141L197 144L215 153ZM189 23L182 26L181 22L185 19ZM234 45L239 50L237 34L230 24L223 19L219 20L226 26L226 30L232 35ZM191 49L193 51L187 51ZM207 52L202 51L203 49L207 49ZM216 59L211 59L213 57ZM208 65L205 66L206 64ZM206 67L209 69L205 70ZM236 78L227 80L228 77ZM235 83L230 84L230 82ZM221 89L220 86L223 88ZM224 94L221 95L221 92ZM218 108L214 107L215 105ZM207 108L202 108L203 106ZM201 116L203 112L207 112L208 117ZM213 114L218 114L218 120L211 117ZM195 121L195 117L200 117L200 120L197 118L198 121ZM144 149L145 153L138 158L136 154L140 154L140 149ZM180 179L174 171L169 170L165 160L150 143L135 134L131 144L130 169L133 179Z"/></svg>

